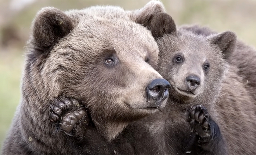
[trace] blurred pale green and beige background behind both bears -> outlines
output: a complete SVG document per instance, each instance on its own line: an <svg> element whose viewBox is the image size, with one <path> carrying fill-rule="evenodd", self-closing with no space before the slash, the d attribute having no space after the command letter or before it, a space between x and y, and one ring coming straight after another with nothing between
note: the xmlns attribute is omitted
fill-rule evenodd
<svg viewBox="0 0 256 155"><path fill-rule="evenodd" d="M91 5L139 9L149 0L0 0L0 148L19 103L24 47L36 12L45 6L61 10ZM30 2L24 6L24 2ZM256 1L162 1L177 25L207 25L219 32L232 30L240 40L256 46Z"/></svg>

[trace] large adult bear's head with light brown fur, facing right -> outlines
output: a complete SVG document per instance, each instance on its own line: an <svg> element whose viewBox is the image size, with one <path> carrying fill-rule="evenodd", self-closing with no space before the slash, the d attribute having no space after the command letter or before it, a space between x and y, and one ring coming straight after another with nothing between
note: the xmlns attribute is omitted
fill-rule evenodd
<svg viewBox="0 0 256 155"><path fill-rule="evenodd" d="M26 103L47 115L52 97L74 97L108 140L129 122L163 108L170 84L154 69L157 44L128 14L111 6L40 10L26 54Z"/></svg>

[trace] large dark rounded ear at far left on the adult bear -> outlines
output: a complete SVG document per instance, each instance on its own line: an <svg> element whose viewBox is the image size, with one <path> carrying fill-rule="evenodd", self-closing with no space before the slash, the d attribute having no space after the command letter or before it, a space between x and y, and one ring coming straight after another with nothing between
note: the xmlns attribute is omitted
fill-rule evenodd
<svg viewBox="0 0 256 155"><path fill-rule="evenodd" d="M72 21L64 12L54 7L45 7L37 13L33 21L32 43L44 52L72 29Z"/></svg>

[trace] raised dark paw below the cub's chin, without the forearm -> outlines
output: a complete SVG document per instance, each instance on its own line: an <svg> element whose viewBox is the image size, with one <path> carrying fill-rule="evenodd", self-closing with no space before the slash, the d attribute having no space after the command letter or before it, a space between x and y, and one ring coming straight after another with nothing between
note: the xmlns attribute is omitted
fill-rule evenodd
<svg viewBox="0 0 256 155"><path fill-rule="evenodd" d="M202 105L195 105L188 108L188 122L192 127L192 132L199 136L199 141L204 142L211 138L210 116L208 111Z"/></svg>

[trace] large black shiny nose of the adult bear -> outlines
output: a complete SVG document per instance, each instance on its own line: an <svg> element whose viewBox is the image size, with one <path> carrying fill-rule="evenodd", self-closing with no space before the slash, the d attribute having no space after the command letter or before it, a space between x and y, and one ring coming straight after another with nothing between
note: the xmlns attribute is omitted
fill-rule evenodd
<svg viewBox="0 0 256 155"><path fill-rule="evenodd" d="M160 103L168 97L168 88L170 88L170 86L170 83L165 79L154 79L147 86L147 97L150 101L149 106L158 107Z"/></svg>

